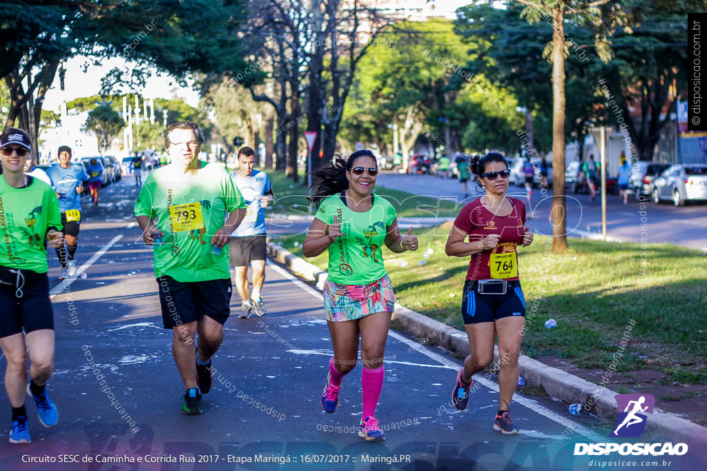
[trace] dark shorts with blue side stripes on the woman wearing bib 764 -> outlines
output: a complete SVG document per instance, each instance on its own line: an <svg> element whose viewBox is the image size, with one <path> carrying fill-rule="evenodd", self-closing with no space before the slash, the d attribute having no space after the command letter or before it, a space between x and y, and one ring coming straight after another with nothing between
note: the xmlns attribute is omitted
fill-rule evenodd
<svg viewBox="0 0 707 471"><path fill-rule="evenodd" d="M525 296L520 281L509 281L506 294L479 294L477 281L464 282L462 317L465 324L493 322L511 316L525 317Z"/></svg>

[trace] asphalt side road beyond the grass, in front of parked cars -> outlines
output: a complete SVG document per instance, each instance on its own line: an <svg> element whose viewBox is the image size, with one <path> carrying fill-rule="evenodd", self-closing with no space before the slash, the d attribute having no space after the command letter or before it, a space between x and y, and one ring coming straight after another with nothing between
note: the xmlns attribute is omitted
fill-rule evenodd
<svg viewBox="0 0 707 471"><path fill-rule="evenodd" d="M401 191L417 189L420 195L443 198L464 204L462 185L457 180L443 180L431 175L408 175L394 172L381 172L377 185ZM476 185L469 185L470 198L477 198ZM552 191L545 193L534 189L527 214L532 217L528 222L532 230L540 234L551 235L552 225L549 220L552 204ZM508 196L526 200L525 188L511 185ZM467 201L468 202L468 201ZM424 208L431 211L430 208ZM590 203L584 194L567 195L567 234L570 237L596 236L602 233L602 206L600 198ZM669 203L655 205L652 201L639 203L629 194L629 204L624 205L618 195L607 195L607 236L626 242L673 244L707 251L707 204L691 204L676 208Z"/></svg>

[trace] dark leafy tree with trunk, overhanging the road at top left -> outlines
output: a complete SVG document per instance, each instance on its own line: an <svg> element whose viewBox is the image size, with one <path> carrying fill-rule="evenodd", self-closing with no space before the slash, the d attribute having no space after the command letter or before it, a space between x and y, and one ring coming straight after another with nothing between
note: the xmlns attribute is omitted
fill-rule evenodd
<svg viewBox="0 0 707 471"><path fill-rule="evenodd" d="M242 0L8 0L0 5L0 76L11 93L6 126L20 119L36 141L42 102L62 60L78 54L123 56L115 71L144 79L148 66L182 76L238 68L238 37L221 32L243 21ZM150 19L146 23L146 18ZM188 19L188 21L185 21ZM131 83L127 80L125 83Z"/></svg>

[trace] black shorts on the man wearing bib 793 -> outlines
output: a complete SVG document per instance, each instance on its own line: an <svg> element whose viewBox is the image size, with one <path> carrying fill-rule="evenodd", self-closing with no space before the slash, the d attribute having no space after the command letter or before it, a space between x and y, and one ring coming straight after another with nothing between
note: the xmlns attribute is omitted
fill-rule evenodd
<svg viewBox="0 0 707 471"><path fill-rule="evenodd" d="M157 278L165 329L209 316L223 326L230 315L230 278L209 281L177 281L169 275Z"/></svg>

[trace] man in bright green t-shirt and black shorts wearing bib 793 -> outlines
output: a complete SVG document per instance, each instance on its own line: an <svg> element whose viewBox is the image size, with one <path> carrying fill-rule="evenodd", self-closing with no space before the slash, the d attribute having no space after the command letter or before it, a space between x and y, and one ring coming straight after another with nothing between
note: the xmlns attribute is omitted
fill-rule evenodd
<svg viewBox="0 0 707 471"><path fill-rule="evenodd" d="M155 245L163 324L173 330L185 414L201 414L201 394L211 389L211 357L223 342L230 314L228 250L221 249L246 208L226 169L197 158L203 142L197 124L170 126L165 147L172 162L149 174L135 203L143 239Z"/></svg>

